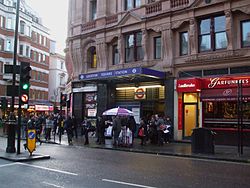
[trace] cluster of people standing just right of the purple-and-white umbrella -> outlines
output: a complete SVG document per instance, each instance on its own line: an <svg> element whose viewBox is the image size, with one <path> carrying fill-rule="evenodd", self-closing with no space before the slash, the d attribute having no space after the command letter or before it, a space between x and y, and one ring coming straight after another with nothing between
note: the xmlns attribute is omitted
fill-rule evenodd
<svg viewBox="0 0 250 188"><path fill-rule="evenodd" d="M147 141L152 144L162 146L169 143L172 139L172 122L168 116L161 114L152 115L150 118L141 118L138 136L141 139L141 145Z"/></svg>

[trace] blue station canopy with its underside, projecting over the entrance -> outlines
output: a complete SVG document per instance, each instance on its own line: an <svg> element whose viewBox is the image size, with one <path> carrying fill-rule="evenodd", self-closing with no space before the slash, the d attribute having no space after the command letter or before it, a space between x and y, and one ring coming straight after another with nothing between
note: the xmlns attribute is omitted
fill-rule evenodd
<svg viewBox="0 0 250 188"><path fill-rule="evenodd" d="M140 79L140 80L153 80L153 79L164 79L165 73L153 69L134 67L127 69L109 70L102 72L94 72L88 74L80 74L79 80L81 81L98 81L98 80L119 80L119 79Z"/></svg>

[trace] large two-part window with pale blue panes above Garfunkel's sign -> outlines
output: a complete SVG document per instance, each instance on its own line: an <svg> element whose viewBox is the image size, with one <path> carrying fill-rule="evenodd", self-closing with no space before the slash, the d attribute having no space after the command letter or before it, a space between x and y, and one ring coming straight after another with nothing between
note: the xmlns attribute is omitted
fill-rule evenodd
<svg viewBox="0 0 250 188"><path fill-rule="evenodd" d="M227 48L226 17L203 19L199 23L199 51L214 51Z"/></svg>

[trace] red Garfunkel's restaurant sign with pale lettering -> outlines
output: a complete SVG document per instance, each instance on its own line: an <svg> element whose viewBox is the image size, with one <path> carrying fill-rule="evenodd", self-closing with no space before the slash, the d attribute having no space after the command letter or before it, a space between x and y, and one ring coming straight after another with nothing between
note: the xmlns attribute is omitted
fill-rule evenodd
<svg viewBox="0 0 250 188"><path fill-rule="evenodd" d="M239 84L241 84L242 87L250 87L250 76L214 77L202 79L203 89L232 88L238 87Z"/></svg>

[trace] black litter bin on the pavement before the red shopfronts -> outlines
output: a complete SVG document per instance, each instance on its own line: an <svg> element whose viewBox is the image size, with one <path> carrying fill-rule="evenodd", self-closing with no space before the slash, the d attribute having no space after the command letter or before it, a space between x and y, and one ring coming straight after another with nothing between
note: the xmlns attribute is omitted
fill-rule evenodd
<svg viewBox="0 0 250 188"><path fill-rule="evenodd" d="M191 148L193 153L214 154L214 132L207 128L193 129Z"/></svg>

